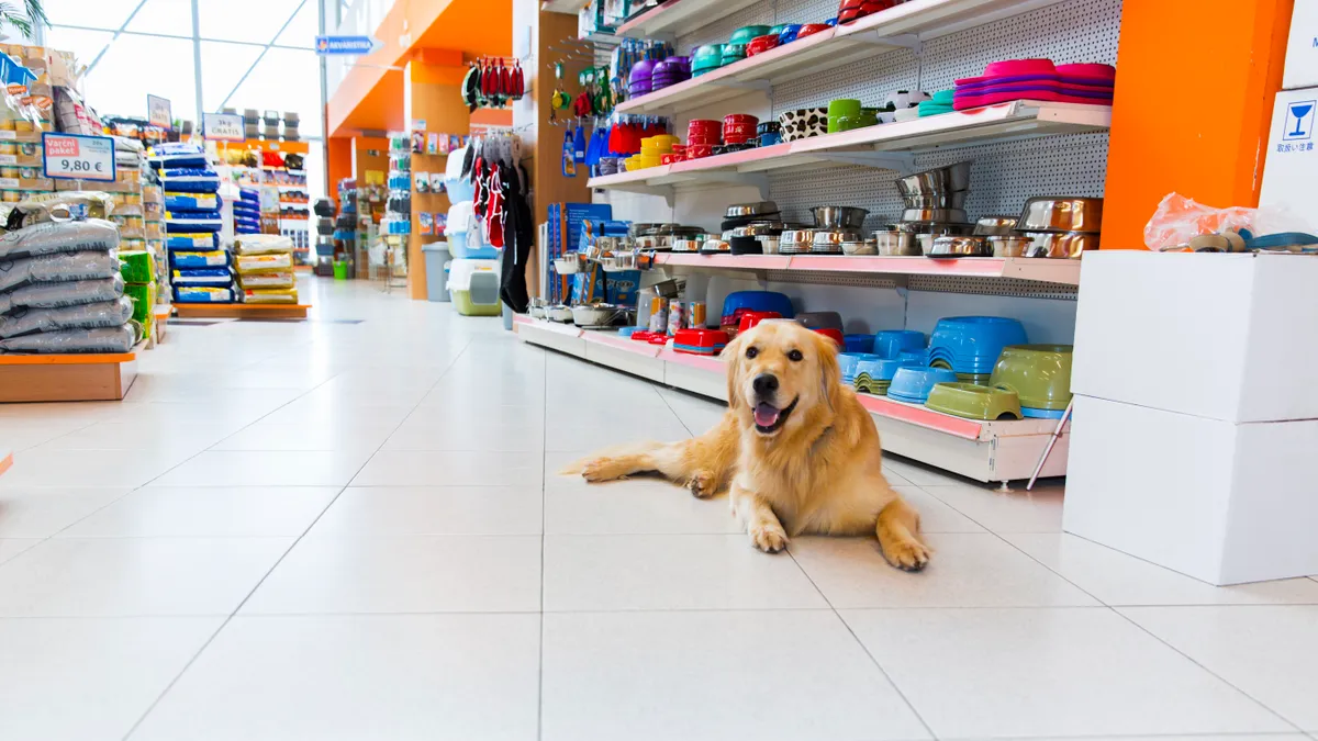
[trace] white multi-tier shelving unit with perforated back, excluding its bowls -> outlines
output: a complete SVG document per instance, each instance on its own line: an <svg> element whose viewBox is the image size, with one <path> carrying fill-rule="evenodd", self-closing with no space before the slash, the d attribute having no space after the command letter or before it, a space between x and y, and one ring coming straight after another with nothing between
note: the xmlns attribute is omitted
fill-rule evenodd
<svg viewBox="0 0 1318 741"><path fill-rule="evenodd" d="M1119 0L908 0L850 25L779 46L618 104L633 115L689 119L750 113L760 121L786 111L861 99L882 105L898 91L948 90L986 65L1027 57L1057 63L1114 63ZM818 22L836 1L754 0L664 3L619 26L619 34L670 40L679 54L725 44L749 25ZM866 232L896 220L900 174L971 161L971 215L1019 214L1033 195L1099 196L1107 158L1110 105L1021 99L967 111L884 123L795 142L755 148L589 179L613 218L709 228L722 206L774 200L783 220L811 223L809 207L858 206ZM658 196L658 198L656 198ZM855 332L913 328L944 316L988 314L1021 319L1035 343L1070 343L1081 261L1048 258L929 258L825 254L658 253L643 280L681 277L685 301L721 301L734 290L787 293L799 310L840 311ZM693 293L691 293L693 291ZM710 303L713 312L714 303ZM609 368L724 400L717 357L676 353L619 338L523 318L519 336ZM884 448L979 481L1028 479L1054 419L982 422L883 396L861 394ZM1066 472L1069 429L1043 468Z"/></svg>

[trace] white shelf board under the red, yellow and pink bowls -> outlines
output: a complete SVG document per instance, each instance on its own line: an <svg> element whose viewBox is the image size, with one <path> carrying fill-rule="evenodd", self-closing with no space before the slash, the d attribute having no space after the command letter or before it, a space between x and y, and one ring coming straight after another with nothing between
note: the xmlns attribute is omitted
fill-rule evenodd
<svg viewBox="0 0 1318 741"><path fill-rule="evenodd" d="M675 190L718 183L762 185L757 175L807 166L869 165L900 170L911 166L915 153L940 146L1102 131L1111 124L1110 105L1015 100L590 178L588 185L671 195Z"/></svg>

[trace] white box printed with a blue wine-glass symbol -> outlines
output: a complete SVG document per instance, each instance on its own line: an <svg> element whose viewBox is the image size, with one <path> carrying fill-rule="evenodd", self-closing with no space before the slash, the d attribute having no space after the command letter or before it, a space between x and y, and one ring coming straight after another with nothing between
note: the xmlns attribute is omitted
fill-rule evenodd
<svg viewBox="0 0 1318 741"><path fill-rule="evenodd" d="M1318 0L1309 0L1318 5ZM1298 5L1296 5L1298 9ZM1311 50L1318 57L1318 47ZM1311 84L1318 84L1314 82ZM1263 167L1259 206L1280 208L1289 222L1318 235L1318 87L1277 94L1272 109L1272 129Z"/></svg>

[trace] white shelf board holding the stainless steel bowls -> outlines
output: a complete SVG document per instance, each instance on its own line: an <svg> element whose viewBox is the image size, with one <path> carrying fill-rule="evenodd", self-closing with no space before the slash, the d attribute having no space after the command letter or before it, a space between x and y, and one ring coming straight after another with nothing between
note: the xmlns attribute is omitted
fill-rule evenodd
<svg viewBox="0 0 1318 741"><path fill-rule="evenodd" d="M1033 257L859 257L841 254L691 254L660 253L656 265L726 270L793 270L803 273L870 273L965 278L1015 278L1079 285L1079 260Z"/></svg>

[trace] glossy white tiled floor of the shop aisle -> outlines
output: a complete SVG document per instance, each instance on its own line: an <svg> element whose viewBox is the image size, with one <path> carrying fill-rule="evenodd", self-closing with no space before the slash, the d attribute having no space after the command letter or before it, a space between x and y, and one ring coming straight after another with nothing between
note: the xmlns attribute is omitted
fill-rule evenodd
<svg viewBox="0 0 1318 741"><path fill-rule="evenodd" d="M1215 589L1062 535L1057 487L902 460L928 571L764 555L726 500L556 475L718 406L304 290L175 326L123 403L0 405L0 738L1318 732L1318 580Z"/></svg>

